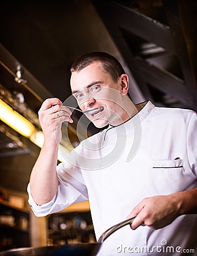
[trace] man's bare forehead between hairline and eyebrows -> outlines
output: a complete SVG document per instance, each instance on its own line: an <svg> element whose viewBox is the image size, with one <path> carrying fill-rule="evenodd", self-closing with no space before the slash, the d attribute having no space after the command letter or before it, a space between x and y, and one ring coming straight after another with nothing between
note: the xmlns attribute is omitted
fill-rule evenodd
<svg viewBox="0 0 197 256"><path fill-rule="evenodd" d="M110 74L104 71L99 62L88 65L79 72L72 72L70 86L73 90L83 90L95 81L106 81L110 79Z"/></svg>

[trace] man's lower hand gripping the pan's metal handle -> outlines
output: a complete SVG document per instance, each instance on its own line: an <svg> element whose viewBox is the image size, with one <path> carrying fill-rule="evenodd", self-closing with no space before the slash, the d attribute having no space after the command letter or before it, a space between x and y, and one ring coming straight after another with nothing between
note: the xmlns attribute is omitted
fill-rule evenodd
<svg viewBox="0 0 197 256"><path fill-rule="evenodd" d="M179 216L181 203L177 203L175 194L167 196L153 196L143 199L127 216L136 216L131 224L132 229L146 225L153 229L160 229L169 225Z"/></svg>

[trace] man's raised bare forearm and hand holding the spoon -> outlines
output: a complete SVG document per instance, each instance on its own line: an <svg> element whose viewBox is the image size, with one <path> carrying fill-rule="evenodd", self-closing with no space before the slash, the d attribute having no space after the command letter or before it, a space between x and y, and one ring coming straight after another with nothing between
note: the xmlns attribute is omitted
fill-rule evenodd
<svg viewBox="0 0 197 256"><path fill-rule="evenodd" d="M48 203L56 195L58 144L62 122L73 122L72 112L58 98L48 98L39 110L39 121L44 133L44 144L30 176L31 195L37 205Z"/></svg>

